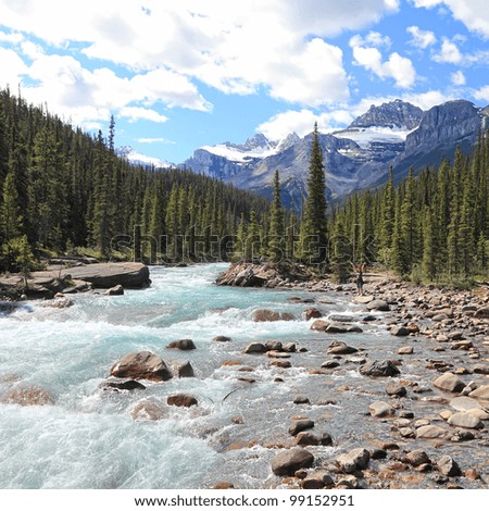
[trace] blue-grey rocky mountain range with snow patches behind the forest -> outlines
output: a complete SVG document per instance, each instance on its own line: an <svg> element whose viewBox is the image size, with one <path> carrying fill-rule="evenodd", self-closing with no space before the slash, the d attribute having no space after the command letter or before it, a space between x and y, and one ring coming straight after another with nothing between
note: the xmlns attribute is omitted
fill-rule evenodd
<svg viewBox="0 0 489 511"><path fill-rule="evenodd" d="M467 151L480 130L489 128L489 107L466 100L448 101L423 111L399 99L372 105L346 129L319 134L329 199L375 187L387 179L392 165L399 182L415 172L452 159L456 147ZM244 144L223 142L197 149L179 167L209 175L238 188L272 196L279 171L283 201L299 210L306 190L312 134L296 133L284 140L256 134Z"/></svg>

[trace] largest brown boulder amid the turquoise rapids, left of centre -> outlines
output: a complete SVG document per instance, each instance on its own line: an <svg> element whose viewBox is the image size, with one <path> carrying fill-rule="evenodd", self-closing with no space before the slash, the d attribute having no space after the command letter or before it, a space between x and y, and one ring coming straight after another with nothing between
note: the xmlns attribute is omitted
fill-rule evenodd
<svg viewBox="0 0 489 511"><path fill-rule="evenodd" d="M163 359L151 351L137 351L124 356L111 367L111 375L151 382L165 382L172 378L172 373Z"/></svg>

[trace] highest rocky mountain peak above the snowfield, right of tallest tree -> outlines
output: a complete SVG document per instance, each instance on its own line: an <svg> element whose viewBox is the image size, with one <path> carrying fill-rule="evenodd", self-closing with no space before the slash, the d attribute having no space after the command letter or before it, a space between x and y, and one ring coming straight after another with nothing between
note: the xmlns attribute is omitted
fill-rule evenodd
<svg viewBox="0 0 489 511"><path fill-rule="evenodd" d="M396 99L389 103L383 103L380 107L373 104L366 113L351 123L350 128L377 126L409 130L419 125L422 116L423 110L421 108Z"/></svg>

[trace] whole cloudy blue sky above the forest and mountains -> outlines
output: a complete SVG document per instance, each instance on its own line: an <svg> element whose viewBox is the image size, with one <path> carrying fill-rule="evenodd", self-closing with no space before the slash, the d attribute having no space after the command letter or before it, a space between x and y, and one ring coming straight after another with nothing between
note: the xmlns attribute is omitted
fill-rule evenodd
<svg viewBox="0 0 489 511"><path fill-rule="evenodd" d="M180 163L401 98L489 104L487 0L0 0L0 87Z"/></svg>

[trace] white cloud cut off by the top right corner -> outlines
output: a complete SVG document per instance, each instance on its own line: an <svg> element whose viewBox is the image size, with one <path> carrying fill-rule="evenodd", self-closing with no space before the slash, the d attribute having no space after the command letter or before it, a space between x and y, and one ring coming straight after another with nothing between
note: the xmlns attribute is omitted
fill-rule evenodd
<svg viewBox="0 0 489 511"><path fill-rule="evenodd" d="M412 0L417 8L431 9L436 5L448 7L455 20L469 30L489 38L489 9L487 0Z"/></svg>

